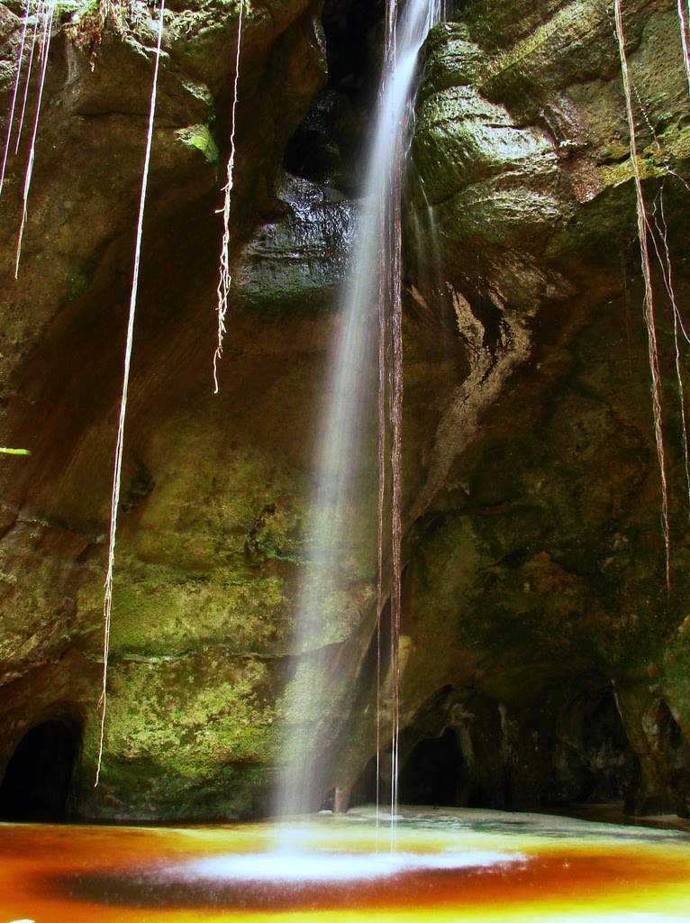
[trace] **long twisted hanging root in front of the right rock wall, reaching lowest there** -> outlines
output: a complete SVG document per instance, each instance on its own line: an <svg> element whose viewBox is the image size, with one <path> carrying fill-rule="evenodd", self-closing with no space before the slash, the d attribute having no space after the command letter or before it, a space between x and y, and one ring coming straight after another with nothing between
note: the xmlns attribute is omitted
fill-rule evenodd
<svg viewBox="0 0 690 923"><path fill-rule="evenodd" d="M639 237L640 259L642 264L642 277L645 282L644 315L647 324L649 368L651 371L651 398L654 416L654 440L657 447L661 479L661 532L663 534L664 552L666 557L666 585L671 589L671 539L669 535L669 495L666 480L666 462L663 447L663 428L661 423L661 398L660 398L660 369L659 346L657 344L657 329L654 319L654 294L651 282L648 248L648 217L645 207L645 198L642 191L642 178L637 162L637 142L635 133L635 118L633 115L632 91L630 86L630 72L625 54L625 35L623 31L623 16L621 14L621 0L613 2L615 13L615 34L621 58L621 72L625 91L625 113L627 115L628 129L630 132L630 159L633 164L636 190L637 210L637 235Z"/></svg>

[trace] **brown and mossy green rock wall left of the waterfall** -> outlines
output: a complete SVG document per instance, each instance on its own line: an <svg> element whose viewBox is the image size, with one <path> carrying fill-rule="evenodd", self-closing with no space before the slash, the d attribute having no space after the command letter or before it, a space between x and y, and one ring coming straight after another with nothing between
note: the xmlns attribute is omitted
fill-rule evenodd
<svg viewBox="0 0 690 923"><path fill-rule="evenodd" d="M306 305L291 317L278 298L247 306L238 286L214 398L217 209L237 11L237 4L173 5L166 19L126 434L107 756L96 790L109 484L152 78L148 6L137 6L125 26L114 14L106 20L92 72L89 47L56 30L18 282L12 234L3 250L3 288L12 293L4 331L14 337L3 350L13 362L3 444L32 453L22 467L2 460L3 761L57 704L76 703L79 809L90 815L246 813L261 797L274 753L278 654L291 624L311 422L304 408L315 402L312 382L331 320L319 327ZM16 12L5 11L7 56L17 50ZM313 208L301 204L300 222L290 204L294 183L284 194L279 188L283 148L326 80L318 14L317 3L255 3L246 20L233 231L237 251L247 254L240 258L247 291L256 287L253 230L262 222L286 226L293 251L282 263L295 279L300 247L305 266L315 263L310 241L300 238L304 223L315 229L312 237L321 234L322 248L326 229L345 246L347 208L334 203L331 217L311 190ZM77 143L69 134L77 131L97 150ZM203 150L194 143L202 136L209 139ZM0 206L14 228L22 159L9 167ZM75 206L77 218L67 222L54 199L76 197L79 183L89 210ZM43 202L54 209L47 213ZM69 240L57 248L62 265L48 271L46 261L57 257L46 242L58 224ZM89 275L70 298L63 289L77 246L89 247ZM338 274L329 271L325 288ZM33 295L38 288L42 302ZM315 285L310 295L319 302ZM15 312L21 335L11 327ZM286 314L289 325L280 320Z"/></svg>

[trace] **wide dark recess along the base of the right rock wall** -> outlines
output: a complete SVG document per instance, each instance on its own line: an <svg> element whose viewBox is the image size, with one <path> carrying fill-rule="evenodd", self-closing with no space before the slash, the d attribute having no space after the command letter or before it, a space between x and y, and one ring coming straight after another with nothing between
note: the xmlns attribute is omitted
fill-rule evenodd
<svg viewBox="0 0 690 923"><path fill-rule="evenodd" d="M459 723L453 707L458 695ZM677 741L666 748L676 754L669 759L684 765L684 740L669 727ZM613 804L623 809L638 770L613 686L591 675L545 692L541 702L510 708L481 693L440 690L402 732L400 750L399 802L410 805L558 811ZM387 751L379 770L379 795L386 804ZM674 781L676 791L683 787ZM375 796L373 757L352 789L351 803Z"/></svg>

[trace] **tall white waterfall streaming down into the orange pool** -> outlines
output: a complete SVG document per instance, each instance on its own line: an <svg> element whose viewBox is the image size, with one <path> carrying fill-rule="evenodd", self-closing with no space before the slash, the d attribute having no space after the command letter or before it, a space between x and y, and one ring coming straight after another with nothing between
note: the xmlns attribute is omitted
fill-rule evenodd
<svg viewBox="0 0 690 923"><path fill-rule="evenodd" d="M310 496L309 561L298 598L295 668L288 689L291 709L282 762L286 767L276 811L291 814L319 807L323 797L314 759L317 720L327 690L327 629L337 623L337 586L343 549L353 539L352 505L363 485L363 442L379 356L378 616L383 605L384 502L391 520L391 734L394 761L398 734L398 635L400 617L401 282L400 184L408 148L417 58L429 30L440 21L441 0L388 0L387 42L378 118L366 167L363 209L330 355L330 381L321 410ZM378 307L377 307L378 306ZM388 362L387 374L384 366ZM374 385L375 387L375 385ZM373 389L372 389L373 390ZM386 416L389 417L388 422ZM385 459L390 431L391 463ZM370 467L375 467L371 460ZM390 486L386 484L389 471ZM380 636L380 633L379 633ZM329 677L330 678L330 677ZM330 684L329 684L330 685ZM316 719L316 720L314 720ZM377 741L377 744L379 741ZM395 766L394 766L395 768ZM395 776L395 773L394 773ZM391 802L397 798L393 782Z"/></svg>

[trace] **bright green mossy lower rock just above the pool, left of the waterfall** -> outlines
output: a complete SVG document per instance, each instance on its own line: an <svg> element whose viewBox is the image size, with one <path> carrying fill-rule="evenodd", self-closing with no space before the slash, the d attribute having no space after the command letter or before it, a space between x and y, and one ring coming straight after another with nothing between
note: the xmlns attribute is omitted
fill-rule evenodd
<svg viewBox="0 0 690 923"><path fill-rule="evenodd" d="M276 756L272 685L254 658L114 661L94 813L250 813ZM95 744L85 740L87 773Z"/></svg>

